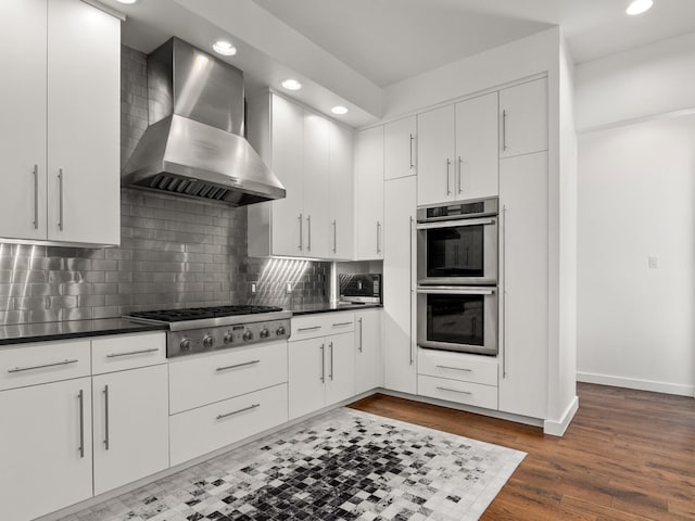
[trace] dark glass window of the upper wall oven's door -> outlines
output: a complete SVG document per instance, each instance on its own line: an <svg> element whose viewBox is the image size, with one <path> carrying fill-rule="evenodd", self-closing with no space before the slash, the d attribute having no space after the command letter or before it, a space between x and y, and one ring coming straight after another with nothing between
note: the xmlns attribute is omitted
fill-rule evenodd
<svg viewBox="0 0 695 521"><path fill-rule="evenodd" d="M483 225L427 230L427 277L484 277Z"/></svg>

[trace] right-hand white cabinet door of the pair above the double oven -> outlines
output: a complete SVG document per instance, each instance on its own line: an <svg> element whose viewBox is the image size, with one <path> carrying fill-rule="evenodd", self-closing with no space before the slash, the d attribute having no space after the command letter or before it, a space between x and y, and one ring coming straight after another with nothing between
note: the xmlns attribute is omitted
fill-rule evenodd
<svg viewBox="0 0 695 521"><path fill-rule="evenodd" d="M456 199L498 194L497 92L456 103Z"/></svg>

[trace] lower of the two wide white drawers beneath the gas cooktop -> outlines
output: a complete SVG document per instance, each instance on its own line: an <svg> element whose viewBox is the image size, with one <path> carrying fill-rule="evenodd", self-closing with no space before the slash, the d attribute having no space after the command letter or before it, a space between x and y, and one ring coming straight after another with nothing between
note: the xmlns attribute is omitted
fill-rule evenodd
<svg viewBox="0 0 695 521"><path fill-rule="evenodd" d="M174 415L172 466L236 443L287 421L287 384Z"/></svg>

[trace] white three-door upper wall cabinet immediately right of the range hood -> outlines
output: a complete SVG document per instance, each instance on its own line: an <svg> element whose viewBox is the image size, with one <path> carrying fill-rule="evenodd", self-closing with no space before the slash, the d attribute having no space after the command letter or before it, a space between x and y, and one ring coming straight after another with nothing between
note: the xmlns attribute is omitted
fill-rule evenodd
<svg viewBox="0 0 695 521"><path fill-rule="evenodd" d="M249 102L249 140L287 190L249 206L249 255L350 258L352 132L266 93Z"/></svg>

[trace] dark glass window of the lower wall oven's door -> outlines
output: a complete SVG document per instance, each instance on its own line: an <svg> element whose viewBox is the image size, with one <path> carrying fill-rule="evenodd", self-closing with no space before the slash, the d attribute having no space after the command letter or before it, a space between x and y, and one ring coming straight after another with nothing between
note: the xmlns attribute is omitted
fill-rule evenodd
<svg viewBox="0 0 695 521"><path fill-rule="evenodd" d="M484 295L427 295L427 340L484 345Z"/></svg>

